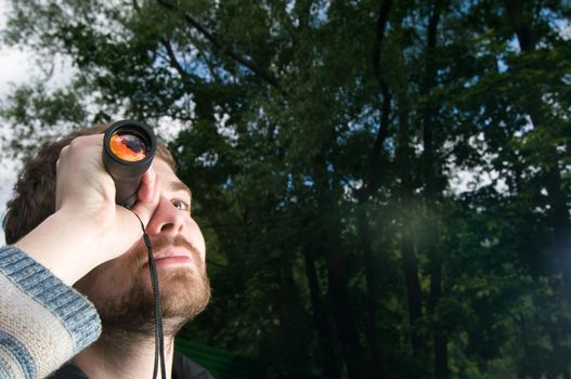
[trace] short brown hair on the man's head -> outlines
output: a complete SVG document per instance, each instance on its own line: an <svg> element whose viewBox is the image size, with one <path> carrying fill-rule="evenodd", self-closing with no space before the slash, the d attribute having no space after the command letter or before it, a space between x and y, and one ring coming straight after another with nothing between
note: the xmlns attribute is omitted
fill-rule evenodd
<svg viewBox="0 0 571 379"><path fill-rule="evenodd" d="M7 244L14 244L55 212L55 162L66 145L82 135L105 132L109 125L80 129L40 145L22 168L3 220ZM157 157L176 171L174 159L157 141Z"/></svg>

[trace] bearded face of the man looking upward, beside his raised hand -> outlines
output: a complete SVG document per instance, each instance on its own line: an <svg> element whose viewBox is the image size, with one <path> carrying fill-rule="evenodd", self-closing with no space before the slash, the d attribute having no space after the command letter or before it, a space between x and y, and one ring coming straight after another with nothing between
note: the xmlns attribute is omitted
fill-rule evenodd
<svg viewBox="0 0 571 379"><path fill-rule="evenodd" d="M146 233L160 288L167 332L176 332L200 313L210 299L205 241L191 217L191 193L161 159L153 168L161 178L161 195ZM134 215L133 215L134 217ZM154 334L154 295L147 250L142 238L122 256L81 278L76 288L96 306L103 328Z"/></svg>

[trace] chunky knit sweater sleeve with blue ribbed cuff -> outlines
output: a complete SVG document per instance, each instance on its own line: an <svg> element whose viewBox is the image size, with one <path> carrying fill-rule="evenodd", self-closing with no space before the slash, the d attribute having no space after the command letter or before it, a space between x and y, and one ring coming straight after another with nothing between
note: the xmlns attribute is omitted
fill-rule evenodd
<svg viewBox="0 0 571 379"><path fill-rule="evenodd" d="M100 334L87 298L22 250L0 248L0 379L43 378Z"/></svg>

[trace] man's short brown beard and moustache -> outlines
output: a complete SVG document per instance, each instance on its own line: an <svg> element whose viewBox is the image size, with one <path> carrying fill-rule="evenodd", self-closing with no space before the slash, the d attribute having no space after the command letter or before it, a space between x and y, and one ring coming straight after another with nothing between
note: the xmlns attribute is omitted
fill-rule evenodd
<svg viewBox="0 0 571 379"><path fill-rule="evenodd" d="M199 251L184 237L157 240L153 244L153 251L158 252L169 246L184 248L194 262L191 267L157 272L164 332L166 336L174 336L208 305L210 284ZM132 270L125 273L129 279L124 295L93 300L103 327L101 342L108 339L117 342L117 338L120 338L124 343L128 343L129 340L137 342L155 336L155 295L151 286L148 256L144 245L138 244L131 257L132 261L128 266Z"/></svg>

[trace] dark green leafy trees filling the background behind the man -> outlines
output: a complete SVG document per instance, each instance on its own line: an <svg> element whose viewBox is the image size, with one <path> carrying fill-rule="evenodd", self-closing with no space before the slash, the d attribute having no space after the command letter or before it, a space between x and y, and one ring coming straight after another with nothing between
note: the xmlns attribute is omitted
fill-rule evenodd
<svg viewBox="0 0 571 379"><path fill-rule="evenodd" d="M213 286L182 334L265 378L568 378L571 8L399 1L380 40L389 3L13 1L4 41L77 75L2 104L12 152L182 126Z"/></svg>

